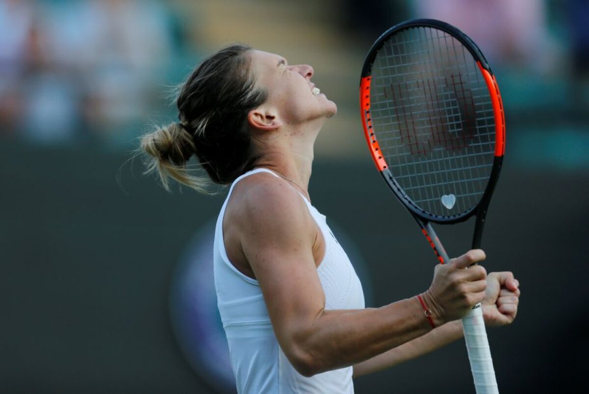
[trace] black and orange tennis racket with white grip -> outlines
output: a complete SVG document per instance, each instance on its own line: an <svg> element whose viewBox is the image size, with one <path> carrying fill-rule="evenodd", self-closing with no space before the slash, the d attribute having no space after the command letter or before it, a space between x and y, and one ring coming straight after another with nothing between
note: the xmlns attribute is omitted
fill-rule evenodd
<svg viewBox="0 0 589 394"><path fill-rule="evenodd" d="M472 248L480 248L505 151L505 119L477 45L433 19L393 26L366 56L360 109L376 168L439 262L449 258L431 223L475 215ZM498 393L480 303L462 325L477 393Z"/></svg>

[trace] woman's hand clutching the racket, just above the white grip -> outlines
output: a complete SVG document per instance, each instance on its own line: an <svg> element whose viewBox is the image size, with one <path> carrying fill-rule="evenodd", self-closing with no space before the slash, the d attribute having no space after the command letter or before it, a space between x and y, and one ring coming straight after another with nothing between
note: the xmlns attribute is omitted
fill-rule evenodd
<svg viewBox="0 0 589 394"><path fill-rule="evenodd" d="M432 285L422 295L436 327L461 319L485 298L487 271L472 265L484 259L485 252L473 249L449 264L436 265Z"/></svg>

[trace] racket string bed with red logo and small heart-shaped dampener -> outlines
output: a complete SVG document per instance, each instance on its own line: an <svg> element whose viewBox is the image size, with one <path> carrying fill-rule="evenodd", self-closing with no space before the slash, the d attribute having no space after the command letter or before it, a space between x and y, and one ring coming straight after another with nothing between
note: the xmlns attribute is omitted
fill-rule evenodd
<svg viewBox="0 0 589 394"><path fill-rule="evenodd" d="M495 120L478 65L451 35L410 28L372 68L370 118L396 182L428 213L468 211L491 173Z"/></svg>

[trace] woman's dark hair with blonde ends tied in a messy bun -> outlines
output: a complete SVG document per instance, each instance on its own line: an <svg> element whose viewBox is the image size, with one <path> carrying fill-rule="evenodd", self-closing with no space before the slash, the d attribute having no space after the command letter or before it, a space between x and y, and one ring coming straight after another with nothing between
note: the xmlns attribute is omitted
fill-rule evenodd
<svg viewBox="0 0 589 394"><path fill-rule="evenodd" d="M266 101L254 87L247 45L231 45L209 56L178 86L178 123L157 127L141 137L145 173L157 173L166 190L170 179L201 193L211 181L229 185L253 168L257 157L247 113ZM188 165L196 155L200 168Z"/></svg>

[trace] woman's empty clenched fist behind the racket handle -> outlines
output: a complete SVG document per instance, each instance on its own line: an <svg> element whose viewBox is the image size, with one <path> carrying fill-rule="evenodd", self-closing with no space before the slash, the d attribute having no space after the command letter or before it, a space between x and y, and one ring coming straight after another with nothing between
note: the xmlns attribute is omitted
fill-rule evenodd
<svg viewBox="0 0 589 394"><path fill-rule="evenodd" d="M481 302L487 326L511 324L517 315L519 282L511 272L491 272L487 275L485 299Z"/></svg>

